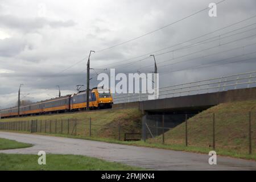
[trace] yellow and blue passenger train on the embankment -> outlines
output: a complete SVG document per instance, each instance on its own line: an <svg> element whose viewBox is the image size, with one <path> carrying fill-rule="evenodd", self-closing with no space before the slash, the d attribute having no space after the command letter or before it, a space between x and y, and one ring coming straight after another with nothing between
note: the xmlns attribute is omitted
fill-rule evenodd
<svg viewBox="0 0 256 182"><path fill-rule="evenodd" d="M104 90L106 91L106 90ZM99 93L98 88L89 90L89 108L108 109L112 108L113 97L108 92ZM29 105L11 107L0 110L0 118L29 116L40 114L66 113L86 109L86 90L63 97L52 98L50 100L34 102Z"/></svg>

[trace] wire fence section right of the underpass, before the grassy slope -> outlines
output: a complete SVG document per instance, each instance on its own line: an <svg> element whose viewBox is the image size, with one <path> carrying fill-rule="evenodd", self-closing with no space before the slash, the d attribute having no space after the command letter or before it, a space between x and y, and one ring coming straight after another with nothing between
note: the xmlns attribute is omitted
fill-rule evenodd
<svg viewBox="0 0 256 182"><path fill-rule="evenodd" d="M153 143L256 153L256 112L162 114L143 117L142 139Z"/></svg>

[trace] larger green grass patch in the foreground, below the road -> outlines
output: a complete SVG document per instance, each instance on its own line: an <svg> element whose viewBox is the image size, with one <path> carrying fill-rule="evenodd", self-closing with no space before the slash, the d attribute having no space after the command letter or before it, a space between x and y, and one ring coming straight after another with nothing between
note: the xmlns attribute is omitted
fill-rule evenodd
<svg viewBox="0 0 256 182"><path fill-rule="evenodd" d="M0 154L0 170L113 170L113 171L131 171L141 170L139 167L131 167L116 162L107 162L105 160L90 158L81 155L56 155L46 154L46 165L38 164L38 155L27 154Z"/></svg>

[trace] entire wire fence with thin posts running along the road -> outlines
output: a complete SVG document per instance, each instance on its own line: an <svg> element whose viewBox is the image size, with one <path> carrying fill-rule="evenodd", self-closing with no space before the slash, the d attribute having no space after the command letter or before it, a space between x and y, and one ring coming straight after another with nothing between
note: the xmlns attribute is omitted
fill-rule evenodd
<svg viewBox="0 0 256 182"><path fill-rule="evenodd" d="M227 108L228 109L228 108ZM256 112L144 115L141 125L110 122L100 125L89 119L47 119L0 122L0 130L62 134L116 140L144 140L153 143L226 149L256 154Z"/></svg>

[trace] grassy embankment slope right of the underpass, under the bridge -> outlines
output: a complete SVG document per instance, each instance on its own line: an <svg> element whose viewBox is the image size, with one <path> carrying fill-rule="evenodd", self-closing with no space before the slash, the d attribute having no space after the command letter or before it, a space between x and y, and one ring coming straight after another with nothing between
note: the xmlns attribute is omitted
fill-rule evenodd
<svg viewBox="0 0 256 182"><path fill-rule="evenodd" d="M165 144L177 150L209 152L213 146L213 113L215 114L215 146L218 154L256 160L256 101L220 104L188 119L188 146L185 144L185 123L164 134ZM249 111L251 111L251 145L249 153ZM148 140L162 142L162 135Z"/></svg>

